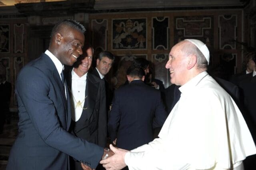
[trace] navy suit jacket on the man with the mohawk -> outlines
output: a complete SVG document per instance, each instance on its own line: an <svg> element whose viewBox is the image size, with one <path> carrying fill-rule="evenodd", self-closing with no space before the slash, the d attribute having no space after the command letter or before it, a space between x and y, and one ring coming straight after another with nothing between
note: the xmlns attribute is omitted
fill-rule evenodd
<svg viewBox="0 0 256 170"><path fill-rule="evenodd" d="M67 89L67 86L66 86ZM70 134L67 101L60 75L46 54L20 71L16 82L19 133L7 170L68 170L69 156L96 168L103 148Z"/></svg>

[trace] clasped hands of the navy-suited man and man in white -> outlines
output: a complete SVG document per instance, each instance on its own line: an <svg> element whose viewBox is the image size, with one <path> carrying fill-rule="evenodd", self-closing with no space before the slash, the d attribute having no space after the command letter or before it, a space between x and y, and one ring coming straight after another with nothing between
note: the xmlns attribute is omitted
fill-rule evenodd
<svg viewBox="0 0 256 170"><path fill-rule="evenodd" d="M128 150L120 149L114 147L110 144L110 150L104 149L104 154L100 164L103 164L103 167L106 170L120 170L126 166L124 162L124 156ZM108 156L106 156L108 154ZM105 159L104 159L105 158ZM81 166L84 170L92 170L89 166L81 163Z"/></svg>

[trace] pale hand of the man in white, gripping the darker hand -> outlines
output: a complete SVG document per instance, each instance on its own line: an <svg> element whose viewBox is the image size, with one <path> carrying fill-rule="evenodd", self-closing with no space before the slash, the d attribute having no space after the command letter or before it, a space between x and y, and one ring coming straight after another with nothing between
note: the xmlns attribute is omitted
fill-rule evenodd
<svg viewBox="0 0 256 170"><path fill-rule="evenodd" d="M103 164L103 167L107 170L120 170L126 166L124 162L124 156L126 152L129 152L128 150L115 148L110 144L110 149L115 153L110 158L107 158L105 160L101 160L100 164Z"/></svg>

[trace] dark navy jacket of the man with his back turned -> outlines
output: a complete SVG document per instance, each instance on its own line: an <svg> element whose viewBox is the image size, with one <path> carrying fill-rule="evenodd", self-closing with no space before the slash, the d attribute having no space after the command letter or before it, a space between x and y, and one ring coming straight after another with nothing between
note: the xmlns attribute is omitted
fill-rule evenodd
<svg viewBox="0 0 256 170"><path fill-rule="evenodd" d="M133 80L114 92L108 132L116 146L127 150L151 142L153 128L161 127L167 114L160 91Z"/></svg>

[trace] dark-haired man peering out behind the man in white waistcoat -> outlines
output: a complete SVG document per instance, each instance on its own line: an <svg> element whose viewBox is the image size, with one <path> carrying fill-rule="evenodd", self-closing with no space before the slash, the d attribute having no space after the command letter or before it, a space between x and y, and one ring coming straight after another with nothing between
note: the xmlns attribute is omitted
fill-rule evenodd
<svg viewBox="0 0 256 170"><path fill-rule="evenodd" d="M97 61L96 67L92 69L91 73L97 76L100 79L104 79L105 81L105 90L106 90L106 109L109 109L112 100L112 89L106 80L106 74L108 74L109 70L112 67L112 64L115 60L115 56L108 51L100 52Z"/></svg>

